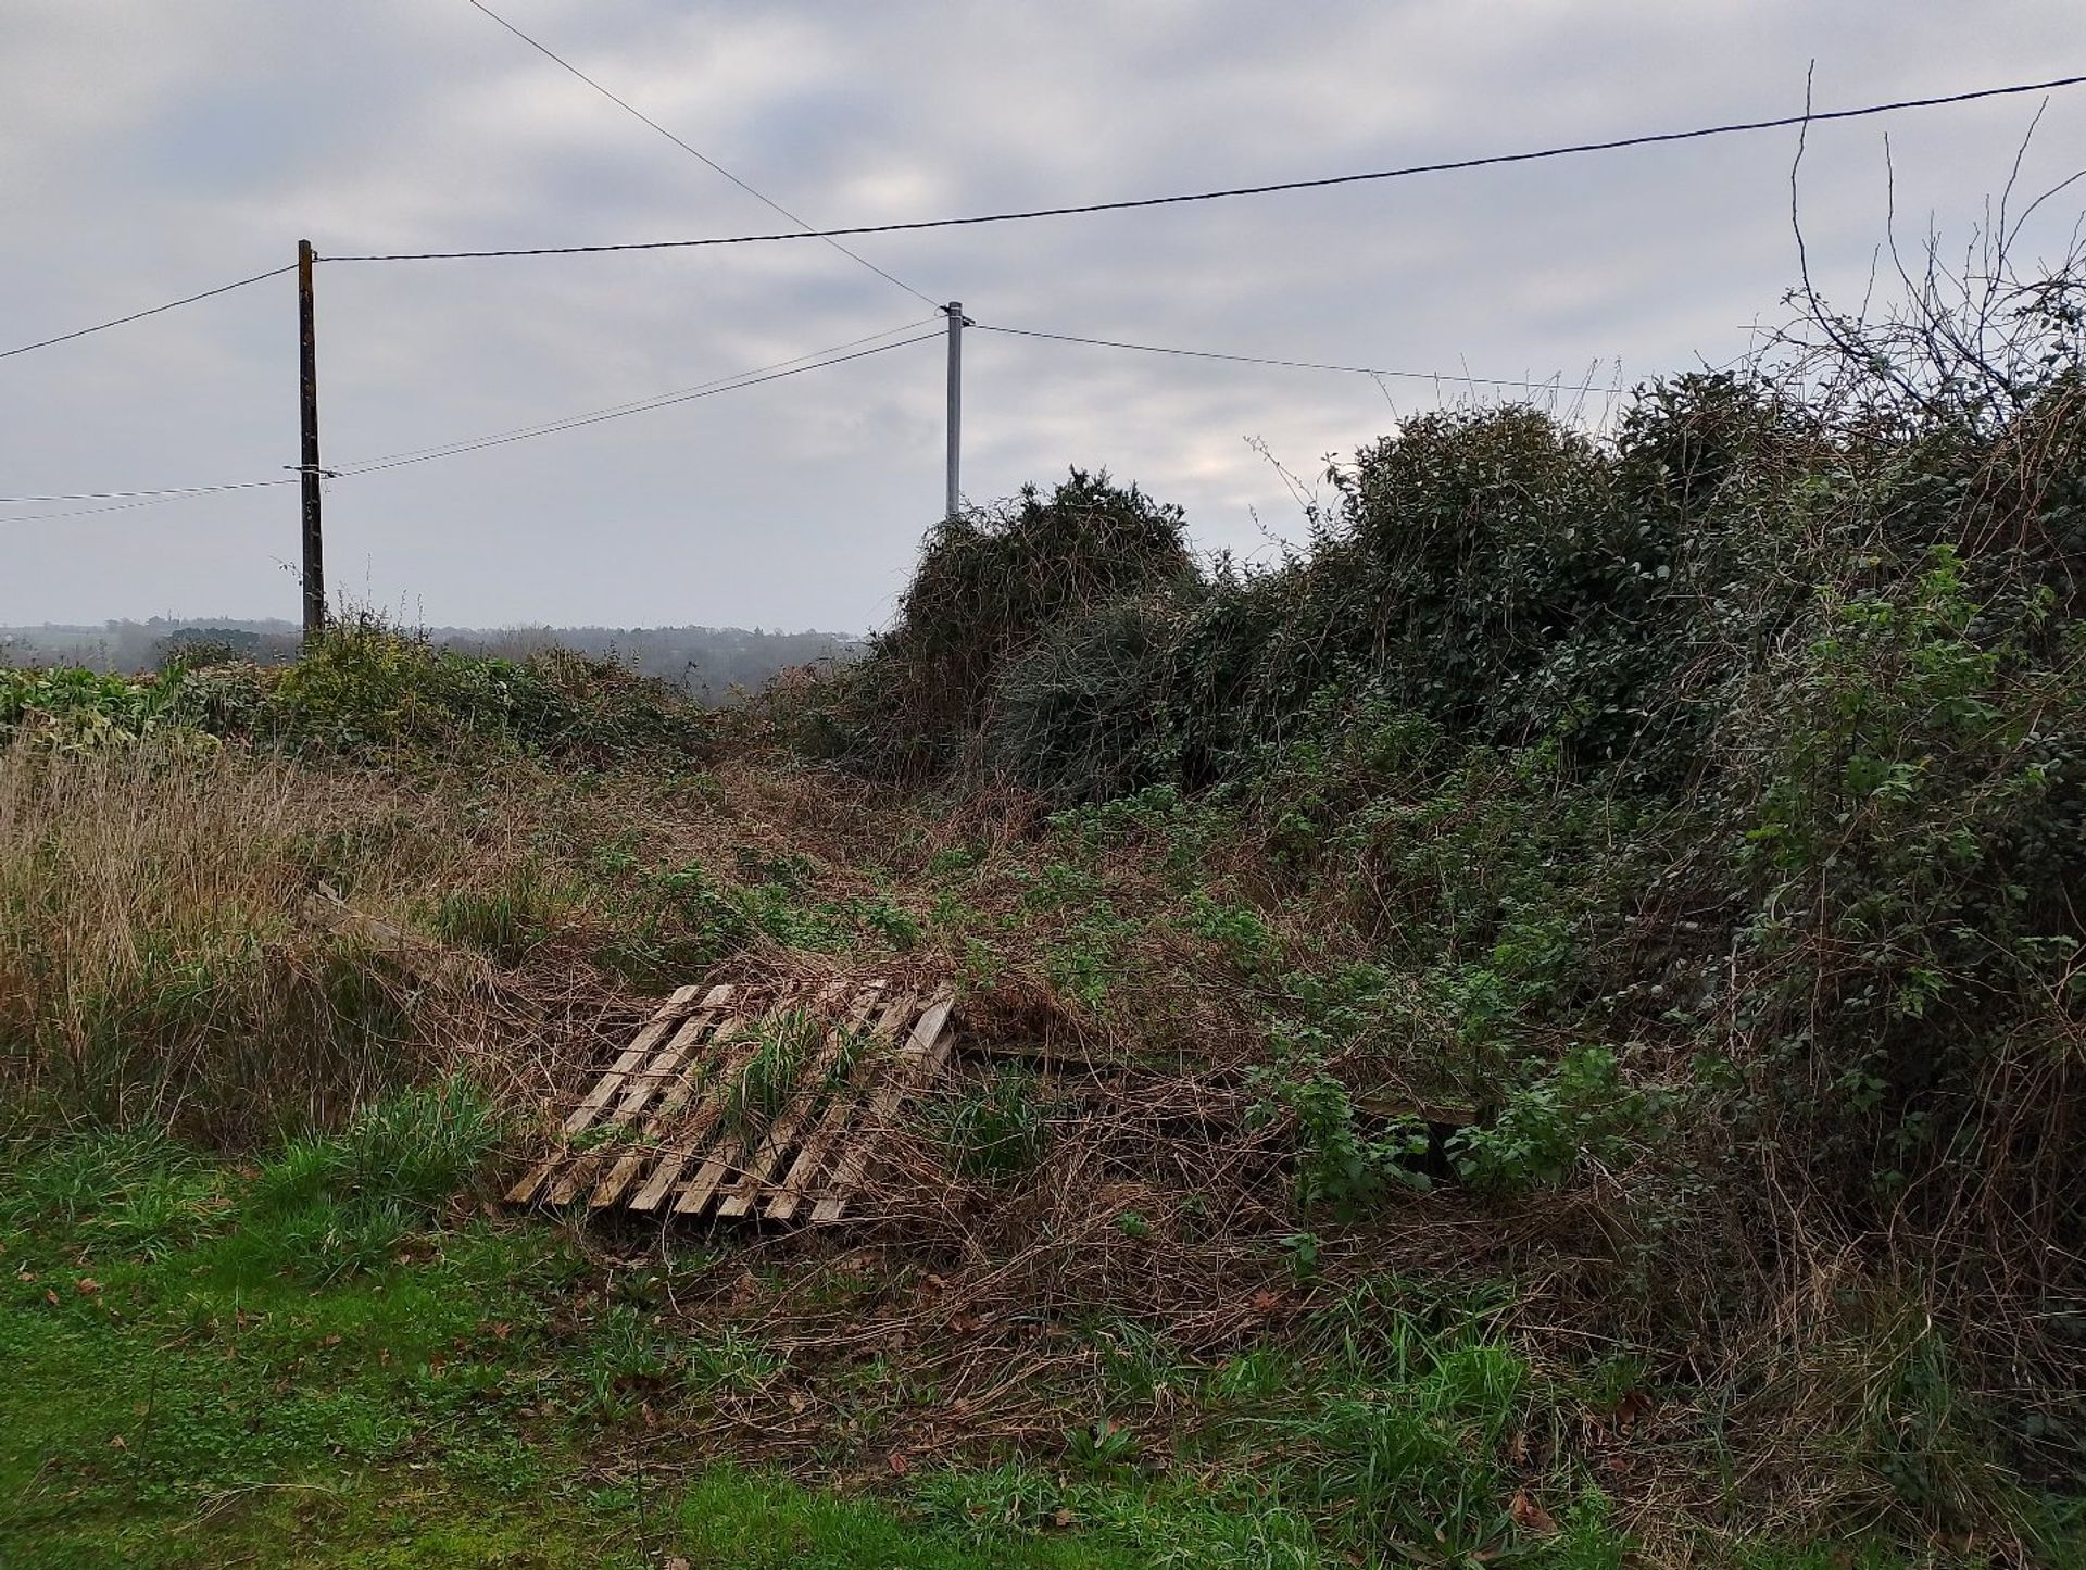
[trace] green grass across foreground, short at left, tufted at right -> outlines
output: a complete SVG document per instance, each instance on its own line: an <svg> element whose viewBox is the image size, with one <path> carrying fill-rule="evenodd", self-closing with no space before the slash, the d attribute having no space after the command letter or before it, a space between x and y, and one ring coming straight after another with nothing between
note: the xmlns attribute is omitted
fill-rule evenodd
<svg viewBox="0 0 2086 1570"><path fill-rule="evenodd" d="M874 1428L935 1397L864 1366L826 1391L859 1424L836 1470L893 1497L720 1464L711 1414L814 1391L789 1349L661 1314L676 1274L741 1266L690 1249L603 1282L561 1228L451 1203L488 1138L440 1084L250 1168L150 1134L0 1155L0 1566L1625 1562L1583 1476L1539 1482L1554 1535L1514 1530L1502 1455L1556 1387L1485 1299L1393 1278L1222 1362L1095 1318L1108 1416L999 1464L884 1478ZM1135 1430L1162 1391L1193 1414L1172 1453Z"/></svg>

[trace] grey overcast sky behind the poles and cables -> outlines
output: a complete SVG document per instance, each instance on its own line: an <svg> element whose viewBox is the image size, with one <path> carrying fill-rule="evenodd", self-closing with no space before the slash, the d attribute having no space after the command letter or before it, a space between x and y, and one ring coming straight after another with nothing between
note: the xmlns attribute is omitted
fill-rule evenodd
<svg viewBox="0 0 2086 1570"><path fill-rule="evenodd" d="M2078 0L490 0L826 225L1508 152L2086 67ZM2034 100L1817 127L1806 240L1859 294L1963 236ZM1794 281L1773 131L1512 169L851 242L976 321L1281 359L1629 384L1742 352ZM2086 163L2051 102L2023 186ZM319 254L778 227L467 0L0 0L0 348ZM2080 202L2059 217L2067 229ZM2051 231L2055 234L2055 231ZM321 265L328 465L705 384L928 315L818 242ZM1195 542L1297 534L1310 477L1427 382L966 338L964 490L1066 465ZM1594 398L1583 411L1602 413ZM0 494L280 477L296 302L269 279L0 361ZM328 488L332 588L430 623L859 630L941 511L939 342ZM77 507L90 507L81 502ZM296 615L296 490L0 505L0 621Z"/></svg>

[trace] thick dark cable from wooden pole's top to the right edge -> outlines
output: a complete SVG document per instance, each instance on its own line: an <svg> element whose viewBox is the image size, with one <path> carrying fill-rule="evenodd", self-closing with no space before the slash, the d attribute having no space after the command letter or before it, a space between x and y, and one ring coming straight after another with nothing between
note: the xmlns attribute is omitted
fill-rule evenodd
<svg viewBox="0 0 2086 1570"><path fill-rule="evenodd" d="M476 0L474 0L476 4ZM1216 202L1233 196L1270 196L1275 192L1325 190L1329 186L1358 186L1377 179L1408 179L1412 175L1444 175L1462 169L1491 169L1512 163L1535 163L1539 158L1567 158L1581 152L1617 152L1621 148L1644 148L1660 142L1694 142L1708 136L1736 136L1740 131L1775 131L1792 125L1819 125L1823 121L1863 119L1867 115L1896 115L1909 108L1938 108L1944 104L1969 104L1980 98L2005 98L2026 92L2053 92L2086 83L2086 75L2051 77L2048 81L2021 81L2007 88L1975 88L1971 92L1938 94L1932 98L1896 98L1886 104L1863 104L1861 108L1821 108L1802 115L1779 115L1775 119L1731 121L1725 125L1700 125L1685 131L1648 131L1642 136L1621 136L1604 142L1571 142L1564 146L1535 148L1529 152L1491 152L1477 158L1448 158L1441 163L1414 163L1398 169L1373 169L1356 175L1323 175L1318 179L1283 179L1266 186L1229 186L1222 190L1183 192L1179 196L1139 196L1120 202L1076 202L1068 206L1033 206L1012 213L976 213L957 219L914 219L909 223L857 223L845 229L797 229L782 234L734 234L703 236L695 240L630 240L601 246L513 246L503 250L394 250L350 256L328 256L340 263L380 261L471 261L480 256L584 256L609 250L690 250L699 246L751 246L778 240L834 240L864 234L912 234L920 229L960 229L980 223L1020 223L1024 219L1062 219L1085 213L1126 213L1145 206L1179 206L1185 202ZM859 259L857 259L859 261ZM878 269L880 271L880 269ZM926 298L926 296L920 296Z"/></svg>

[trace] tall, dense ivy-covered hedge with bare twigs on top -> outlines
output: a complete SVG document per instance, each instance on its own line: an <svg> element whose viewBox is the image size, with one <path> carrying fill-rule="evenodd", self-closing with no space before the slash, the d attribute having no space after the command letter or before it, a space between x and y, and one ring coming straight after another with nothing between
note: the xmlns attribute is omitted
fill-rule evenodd
<svg viewBox="0 0 2086 1570"><path fill-rule="evenodd" d="M2011 1414L1992 1476L2076 1474L2086 275L1946 281L1604 436L1408 419L1266 569L1076 471L943 525L853 755L1177 792L1352 919L1396 984L1277 978L1258 1070L1312 1203L1598 1182L1648 1301L1790 1334L1859 1276Z"/></svg>

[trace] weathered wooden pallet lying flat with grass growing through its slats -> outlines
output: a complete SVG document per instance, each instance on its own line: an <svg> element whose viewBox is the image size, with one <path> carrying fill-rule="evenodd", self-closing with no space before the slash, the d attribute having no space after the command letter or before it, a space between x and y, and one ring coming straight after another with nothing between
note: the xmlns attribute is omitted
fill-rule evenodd
<svg viewBox="0 0 2086 1570"><path fill-rule="evenodd" d="M684 986L565 1118L507 1201L836 1222L907 1095L949 1057L951 995L864 986ZM797 1042L749 1107L747 1070Z"/></svg>

